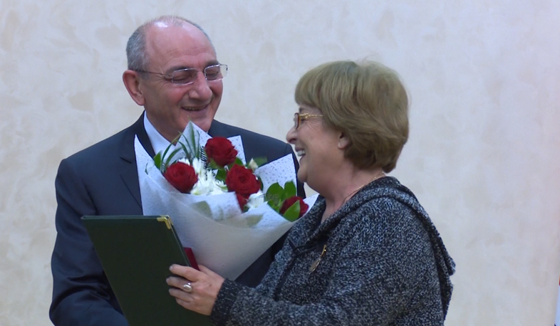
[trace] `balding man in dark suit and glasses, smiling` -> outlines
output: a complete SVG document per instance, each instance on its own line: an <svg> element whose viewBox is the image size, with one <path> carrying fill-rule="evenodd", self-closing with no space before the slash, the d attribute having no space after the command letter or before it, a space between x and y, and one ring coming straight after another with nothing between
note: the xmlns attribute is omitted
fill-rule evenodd
<svg viewBox="0 0 560 326"><path fill-rule="evenodd" d="M127 56L123 81L145 114L118 134L63 159L58 168L50 309L57 326L128 325L81 216L142 214L135 136L154 156L192 120L212 136L240 135L247 159L294 155L289 144L214 120L227 67L220 65L208 36L194 23L175 16L149 21L130 36ZM299 191L303 194L301 184ZM258 284L274 251L264 253L238 280Z"/></svg>

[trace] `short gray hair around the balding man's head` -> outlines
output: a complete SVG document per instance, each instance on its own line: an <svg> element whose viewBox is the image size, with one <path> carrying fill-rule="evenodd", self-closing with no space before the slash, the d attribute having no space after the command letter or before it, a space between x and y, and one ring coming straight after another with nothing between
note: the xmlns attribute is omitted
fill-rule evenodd
<svg viewBox="0 0 560 326"><path fill-rule="evenodd" d="M208 38L208 41L210 42L214 53L216 53L216 49L214 48L214 44L212 44L212 40L199 24L179 16L160 16L156 19L152 19L150 21L142 23L140 27L136 28L133 35L128 38L128 42L126 43L126 58L128 61L129 70L147 70L147 66L150 63L150 58L148 58L146 53L146 31L147 28L155 25L155 23L169 23L170 25L177 27L181 27L185 25L185 23L190 23L192 26L195 26L202 33L204 33L204 36Z"/></svg>

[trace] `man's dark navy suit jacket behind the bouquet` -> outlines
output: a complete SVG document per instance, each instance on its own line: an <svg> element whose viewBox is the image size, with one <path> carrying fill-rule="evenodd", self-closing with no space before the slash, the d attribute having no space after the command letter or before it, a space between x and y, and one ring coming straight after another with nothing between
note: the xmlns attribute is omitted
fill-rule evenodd
<svg viewBox="0 0 560 326"><path fill-rule="evenodd" d="M58 167L55 182L57 236L51 260L53 302L49 311L51 320L57 326L128 325L81 216L142 215L134 152L135 135L153 157L154 150L145 132L142 115L134 125L63 159ZM212 122L209 135L240 135L247 159L266 157L271 162L286 154L294 156L289 144L216 120ZM294 163L297 169L299 165L295 156ZM304 194L301 184L298 184L298 192ZM237 280L256 286L268 270L274 253L281 248L281 241Z"/></svg>

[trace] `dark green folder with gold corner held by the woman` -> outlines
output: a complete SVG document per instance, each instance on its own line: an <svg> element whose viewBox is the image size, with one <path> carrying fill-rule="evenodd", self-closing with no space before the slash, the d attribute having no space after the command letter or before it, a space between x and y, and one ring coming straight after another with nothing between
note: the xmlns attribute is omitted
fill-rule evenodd
<svg viewBox="0 0 560 326"><path fill-rule="evenodd" d="M169 216L83 216L95 252L130 326L205 326L169 294L170 265L191 265Z"/></svg>

